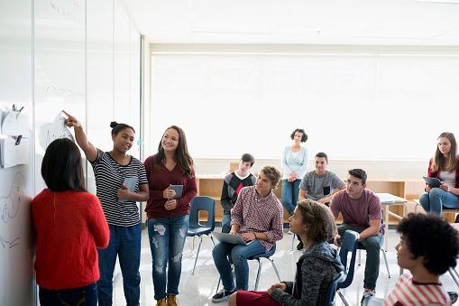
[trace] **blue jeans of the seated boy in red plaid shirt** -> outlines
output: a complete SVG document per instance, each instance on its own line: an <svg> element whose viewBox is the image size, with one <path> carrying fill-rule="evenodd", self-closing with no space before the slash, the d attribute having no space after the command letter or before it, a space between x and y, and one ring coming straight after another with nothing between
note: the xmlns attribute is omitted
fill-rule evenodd
<svg viewBox="0 0 459 306"><path fill-rule="evenodd" d="M264 246L258 239L247 246L226 243L214 246L212 256L214 257L216 269L222 278L223 288L226 291L233 291L234 288L237 290L247 290L249 288L249 264L247 263L247 258L263 253L265 253ZM234 274L236 274L235 287L228 255L231 256L234 264Z"/></svg>

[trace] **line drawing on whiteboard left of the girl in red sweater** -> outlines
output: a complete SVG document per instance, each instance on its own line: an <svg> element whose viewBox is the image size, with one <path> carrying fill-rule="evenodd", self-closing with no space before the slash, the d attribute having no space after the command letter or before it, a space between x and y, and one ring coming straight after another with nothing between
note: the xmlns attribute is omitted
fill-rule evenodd
<svg viewBox="0 0 459 306"><path fill-rule="evenodd" d="M7 227L6 224L10 222L16 222L15 218L18 216L22 205L24 205L24 201L27 200L23 196L24 184L23 173L16 172L8 194L0 196L0 246L4 249L18 246L21 240L21 230L7 231L3 227ZM17 220L16 223L20 224L22 220ZM10 232L10 235L5 237L5 233L8 232Z"/></svg>

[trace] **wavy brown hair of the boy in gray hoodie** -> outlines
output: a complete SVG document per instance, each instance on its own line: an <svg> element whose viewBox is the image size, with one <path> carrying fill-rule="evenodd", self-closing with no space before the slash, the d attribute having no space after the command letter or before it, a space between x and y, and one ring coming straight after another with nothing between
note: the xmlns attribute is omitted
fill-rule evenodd
<svg viewBox="0 0 459 306"><path fill-rule="evenodd" d="M330 209L312 199L298 201L297 208L303 224L308 227L307 236L310 241L322 242L333 238L336 225Z"/></svg>

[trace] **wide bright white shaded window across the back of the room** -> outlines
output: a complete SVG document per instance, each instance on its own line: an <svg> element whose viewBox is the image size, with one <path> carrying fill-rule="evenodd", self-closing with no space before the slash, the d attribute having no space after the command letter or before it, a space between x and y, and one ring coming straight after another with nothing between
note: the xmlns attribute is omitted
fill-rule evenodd
<svg viewBox="0 0 459 306"><path fill-rule="evenodd" d="M429 124L427 111L457 108L458 55L442 46L152 44L150 149L176 124L195 158L280 159L302 127L310 157L427 163L438 134L459 134L454 120ZM406 175L394 168L374 175Z"/></svg>

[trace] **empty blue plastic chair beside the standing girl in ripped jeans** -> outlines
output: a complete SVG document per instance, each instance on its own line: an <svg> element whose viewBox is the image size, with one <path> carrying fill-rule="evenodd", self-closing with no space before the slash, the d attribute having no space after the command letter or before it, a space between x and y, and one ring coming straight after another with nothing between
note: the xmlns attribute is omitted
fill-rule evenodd
<svg viewBox="0 0 459 306"><path fill-rule="evenodd" d="M189 210L189 227L187 236L198 236L199 237L199 246L197 246L197 254L195 259L195 264L193 265L193 272L191 274L195 274L195 268L197 263L197 256L199 256L199 250L201 249L202 244L202 236L206 235L209 236L212 240L214 246L214 238L209 234L214 231L216 227L216 200L206 197L206 196L197 196L191 200L190 203L190 210ZM206 210L207 211L207 224L202 225L199 223L199 211Z"/></svg>

